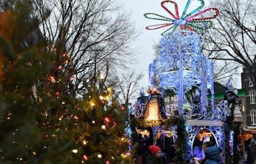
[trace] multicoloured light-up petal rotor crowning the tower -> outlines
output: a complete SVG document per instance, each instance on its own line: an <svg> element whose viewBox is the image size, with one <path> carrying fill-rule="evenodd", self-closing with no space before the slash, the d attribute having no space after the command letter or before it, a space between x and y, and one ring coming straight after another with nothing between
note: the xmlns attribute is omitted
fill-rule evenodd
<svg viewBox="0 0 256 164"><path fill-rule="evenodd" d="M196 0L194 0L196 1ZM191 0L187 1L185 9L182 15L179 15L178 5L174 1L162 1L161 6L165 11L167 11L172 17L165 17L162 15L158 15L156 13L145 13L144 17L148 19L154 20L162 20L166 23L163 24L155 24L151 26L147 26L147 30L156 30L158 28L169 27L165 30L161 35L165 34L167 31L174 30L189 30L189 31L204 31L210 28L213 23L210 21L211 19L215 19L219 15L219 10L217 8L207 8L200 11L204 7L203 0L197 0L201 4L199 7L194 9L192 12L187 13L189 5L191 4ZM171 12L166 5L174 5L175 14Z"/></svg>

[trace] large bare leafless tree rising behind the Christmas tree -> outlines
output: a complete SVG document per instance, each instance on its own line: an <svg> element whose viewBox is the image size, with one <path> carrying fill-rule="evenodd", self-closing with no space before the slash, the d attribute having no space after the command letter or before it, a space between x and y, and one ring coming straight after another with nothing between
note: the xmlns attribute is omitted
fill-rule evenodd
<svg viewBox="0 0 256 164"><path fill-rule="evenodd" d="M34 0L34 5L49 48L72 60L77 91L84 89L89 74L101 70L106 60L110 67L124 67L133 56L133 25L114 0Z"/></svg>

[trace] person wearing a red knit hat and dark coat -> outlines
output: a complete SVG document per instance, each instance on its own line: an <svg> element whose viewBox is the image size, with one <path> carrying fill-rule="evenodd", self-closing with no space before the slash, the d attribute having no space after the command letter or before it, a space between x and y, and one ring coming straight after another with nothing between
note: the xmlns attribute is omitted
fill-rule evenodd
<svg viewBox="0 0 256 164"><path fill-rule="evenodd" d="M162 164L161 148L158 146L150 145L148 149L151 152L151 155L146 157L144 164Z"/></svg>

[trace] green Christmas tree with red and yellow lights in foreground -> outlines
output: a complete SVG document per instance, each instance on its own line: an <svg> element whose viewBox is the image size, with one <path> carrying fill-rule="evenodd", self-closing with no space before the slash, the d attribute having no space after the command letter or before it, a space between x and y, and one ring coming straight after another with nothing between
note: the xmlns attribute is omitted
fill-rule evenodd
<svg viewBox="0 0 256 164"><path fill-rule="evenodd" d="M77 99L64 39L50 47L32 11L0 13L0 163L133 163L111 89L91 78Z"/></svg>

